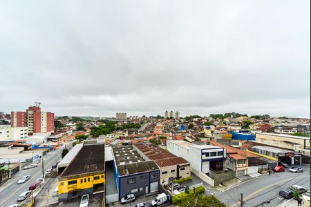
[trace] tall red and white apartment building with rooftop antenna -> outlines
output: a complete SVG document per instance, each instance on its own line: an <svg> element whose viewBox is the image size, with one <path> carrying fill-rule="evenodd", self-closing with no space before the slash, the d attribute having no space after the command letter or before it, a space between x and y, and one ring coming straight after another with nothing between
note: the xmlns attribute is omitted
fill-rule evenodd
<svg viewBox="0 0 311 207"><path fill-rule="evenodd" d="M11 112L12 127L28 127L28 135L54 133L54 113L41 112L39 104L30 106L26 112Z"/></svg>

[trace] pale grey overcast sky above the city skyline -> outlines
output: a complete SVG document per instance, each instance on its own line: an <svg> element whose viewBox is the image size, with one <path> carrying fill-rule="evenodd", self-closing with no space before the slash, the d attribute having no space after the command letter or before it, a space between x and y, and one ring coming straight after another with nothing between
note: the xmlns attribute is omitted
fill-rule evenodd
<svg viewBox="0 0 311 207"><path fill-rule="evenodd" d="M310 117L310 0L1 1L0 111Z"/></svg>

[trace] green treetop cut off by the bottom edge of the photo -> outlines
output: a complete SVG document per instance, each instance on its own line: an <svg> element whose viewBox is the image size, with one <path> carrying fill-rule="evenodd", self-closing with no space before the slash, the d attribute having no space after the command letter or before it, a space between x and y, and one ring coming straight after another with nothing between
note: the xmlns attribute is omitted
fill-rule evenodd
<svg viewBox="0 0 311 207"><path fill-rule="evenodd" d="M226 207L223 202L217 199L214 195L189 195L186 197L180 207Z"/></svg>

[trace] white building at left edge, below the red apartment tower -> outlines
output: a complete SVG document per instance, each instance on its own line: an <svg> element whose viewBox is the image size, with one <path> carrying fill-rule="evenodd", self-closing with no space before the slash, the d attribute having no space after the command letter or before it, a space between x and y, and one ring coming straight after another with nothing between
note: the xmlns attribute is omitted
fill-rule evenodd
<svg viewBox="0 0 311 207"><path fill-rule="evenodd" d="M27 137L27 127L0 126L0 141L15 141L18 139L26 139Z"/></svg>

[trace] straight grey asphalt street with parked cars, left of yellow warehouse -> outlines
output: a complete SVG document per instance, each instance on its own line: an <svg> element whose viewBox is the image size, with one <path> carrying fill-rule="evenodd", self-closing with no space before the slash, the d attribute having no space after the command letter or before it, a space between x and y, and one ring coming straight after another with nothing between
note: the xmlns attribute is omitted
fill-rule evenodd
<svg viewBox="0 0 311 207"><path fill-rule="evenodd" d="M44 171L48 168L51 168L53 164L61 157L62 148L59 148L55 151L48 152L44 158ZM30 179L24 184L17 184L19 178L24 175L30 175ZM21 170L17 172L14 177L7 181L3 186L0 187L0 207L8 207L12 204L17 204L17 197L28 190L29 186L42 177L42 164L38 164L37 168L32 168L29 170Z"/></svg>

